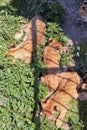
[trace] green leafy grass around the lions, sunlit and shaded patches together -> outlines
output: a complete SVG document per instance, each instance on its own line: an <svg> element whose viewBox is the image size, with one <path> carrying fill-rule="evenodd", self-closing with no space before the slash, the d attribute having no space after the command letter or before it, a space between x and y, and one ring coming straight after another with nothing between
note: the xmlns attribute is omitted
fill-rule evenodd
<svg viewBox="0 0 87 130"><path fill-rule="evenodd" d="M48 92L39 79L40 75L45 74L42 53L46 43L33 54L33 63L30 65L23 61L14 63L12 57L5 58L10 43L21 43L21 40L13 39L14 34L35 13L44 17L47 39L53 38L63 44L66 42L61 29L65 21L64 10L59 4L47 3L45 0L0 1L0 130L57 130L54 122L43 116L37 117L40 101ZM67 64L69 56L73 55L71 52L63 57L63 64ZM72 112L67 112L66 121L72 130L87 129L86 104L78 100L70 102Z"/></svg>

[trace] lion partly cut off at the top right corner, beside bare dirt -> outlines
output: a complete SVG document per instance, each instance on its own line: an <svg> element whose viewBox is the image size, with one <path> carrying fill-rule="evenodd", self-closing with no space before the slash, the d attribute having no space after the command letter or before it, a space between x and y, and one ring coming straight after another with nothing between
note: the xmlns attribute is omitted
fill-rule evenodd
<svg viewBox="0 0 87 130"><path fill-rule="evenodd" d="M84 1L81 7L79 8L79 14L81 19L84 22L87 22L87 1Z"/></svg>

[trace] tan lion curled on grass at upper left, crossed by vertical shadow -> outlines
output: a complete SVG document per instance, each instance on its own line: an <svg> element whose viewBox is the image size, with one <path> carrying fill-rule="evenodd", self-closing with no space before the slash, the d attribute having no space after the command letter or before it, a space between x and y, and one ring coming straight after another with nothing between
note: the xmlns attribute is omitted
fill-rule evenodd
<svg viewBox="0 0 87 130"><path fill-rule="evenodd" d="M42 21L41 17L33 17L28 24L22 27L21 33L15 36L19 38L24 31L26 33L24 42L17 47L14 45L11 46L6 52L6 56L13 56L13 61L25 60L26 63L30 63L32 60L32 52L45 40L45 30L45 23Z"/></svg>

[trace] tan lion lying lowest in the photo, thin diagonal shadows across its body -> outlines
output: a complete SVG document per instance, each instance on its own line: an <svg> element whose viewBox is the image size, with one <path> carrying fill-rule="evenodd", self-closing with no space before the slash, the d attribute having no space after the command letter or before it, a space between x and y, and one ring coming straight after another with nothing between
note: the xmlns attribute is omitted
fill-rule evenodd
<svg viewBox="0 0 87 130"><path fill-rule="evenodd" d="M64 121L68 108L68 103L72 98L78 98L77 89L82 84L82 79L76 72L62 72L57 75L61 80L57 83L57 89L48 98L41 101L43 114L51 120L56 121L56 126L60 128ZM55 79L54 79L55 82ZM59 112L59 116L56 118L53 114Z"/></svg>

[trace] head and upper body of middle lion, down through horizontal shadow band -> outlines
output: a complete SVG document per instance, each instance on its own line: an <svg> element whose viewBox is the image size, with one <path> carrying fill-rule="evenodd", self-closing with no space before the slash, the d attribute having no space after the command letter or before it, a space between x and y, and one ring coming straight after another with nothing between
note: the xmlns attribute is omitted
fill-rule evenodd
<svg viewBox="0 0 87 130"><path fill-rule="evenodd" d="M62 51L62 44L56 41L51 41L44 49L43 59L47 74L55 73L60 69L60 58Z"/></svg>

